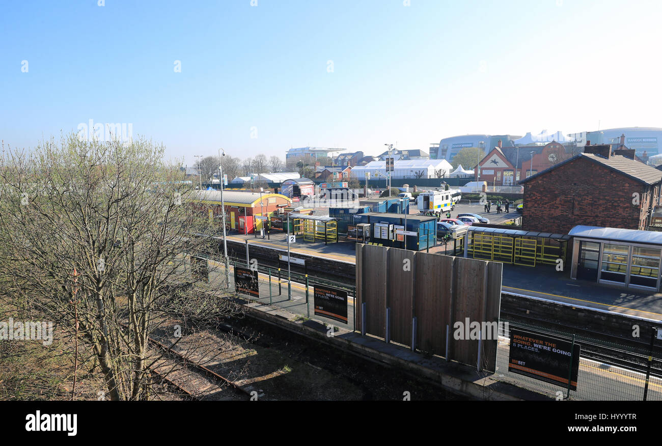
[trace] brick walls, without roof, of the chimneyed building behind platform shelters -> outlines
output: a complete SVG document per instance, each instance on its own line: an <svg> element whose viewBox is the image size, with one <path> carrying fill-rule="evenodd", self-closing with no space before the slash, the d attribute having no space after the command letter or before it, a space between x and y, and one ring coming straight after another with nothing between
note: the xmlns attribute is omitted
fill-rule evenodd
<svg viewBox="0 0 662 446"><path fill-rule="evenodd" d="M522 230L567 234L578 224L643 230L657 189L579 158L524 183Z"/></svg>

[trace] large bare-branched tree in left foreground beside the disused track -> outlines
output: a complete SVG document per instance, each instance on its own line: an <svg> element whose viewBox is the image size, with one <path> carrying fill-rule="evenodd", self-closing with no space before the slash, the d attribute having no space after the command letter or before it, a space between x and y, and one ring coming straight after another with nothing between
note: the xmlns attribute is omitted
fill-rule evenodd
<svg viewBox="0 0 662 446"><path fill-rule="evenodd" d="M111 400L150 397L161 354L148 338L164 322L200 308L204 320L234 312L191 277L189 254L213 255L215 232L163 154L144 140L70 135L0 157L0 302L81 341ZM173 287L185 298L171 298Z"/></svg>

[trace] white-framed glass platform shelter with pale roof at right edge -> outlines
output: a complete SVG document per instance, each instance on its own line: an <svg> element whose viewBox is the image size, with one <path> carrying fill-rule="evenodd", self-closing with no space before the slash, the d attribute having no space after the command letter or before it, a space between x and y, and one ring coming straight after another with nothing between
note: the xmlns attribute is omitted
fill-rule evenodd
<svg viewBox="0 0 662 446"><path fill-rule="evenodd" d="M662 232L575 226L571 277L659 290Z"/></svg>

